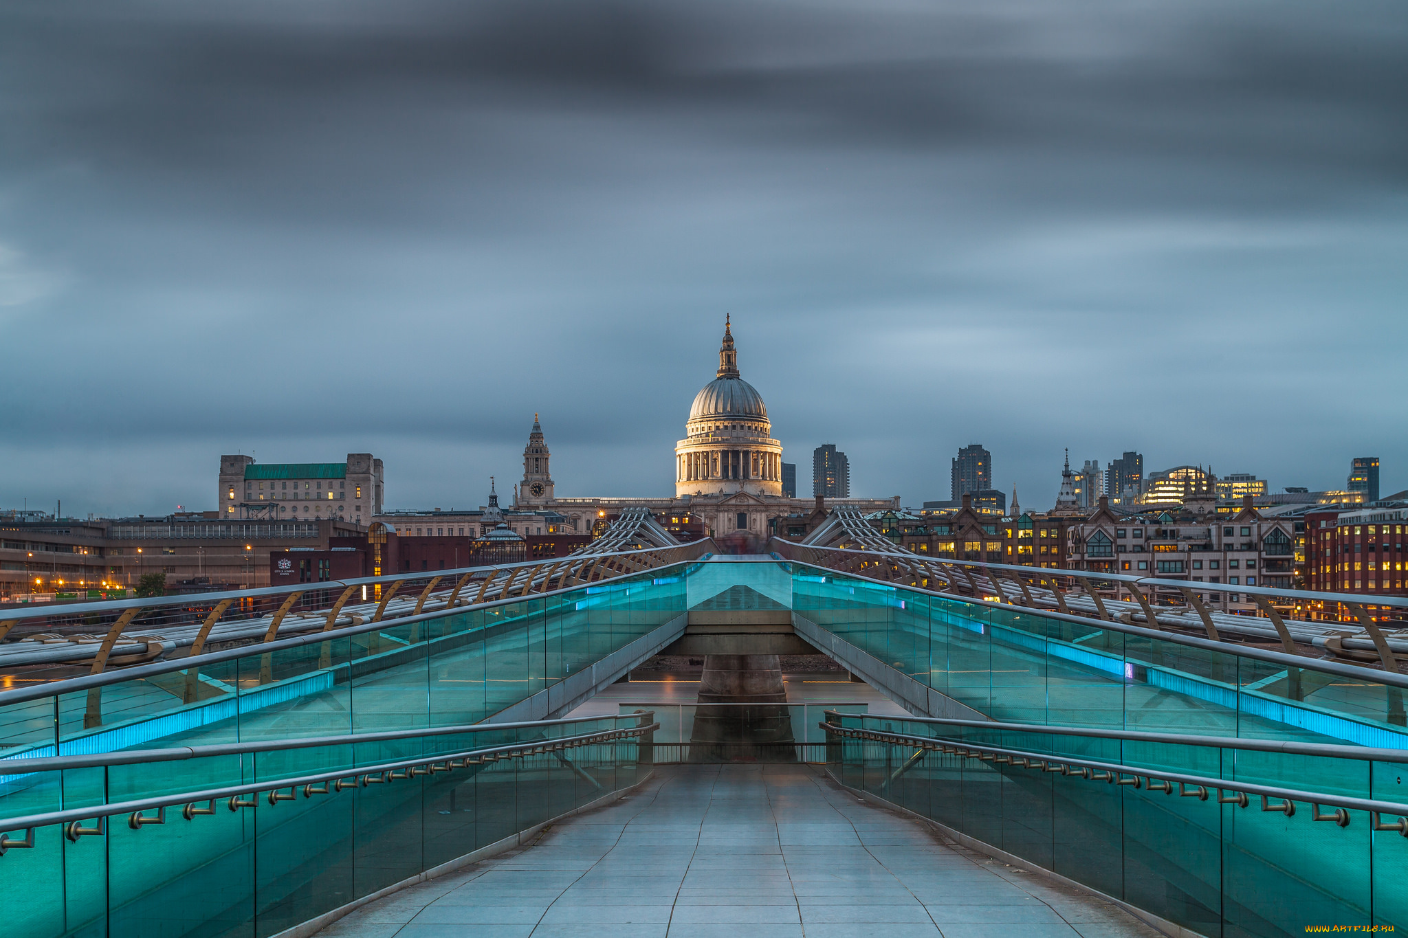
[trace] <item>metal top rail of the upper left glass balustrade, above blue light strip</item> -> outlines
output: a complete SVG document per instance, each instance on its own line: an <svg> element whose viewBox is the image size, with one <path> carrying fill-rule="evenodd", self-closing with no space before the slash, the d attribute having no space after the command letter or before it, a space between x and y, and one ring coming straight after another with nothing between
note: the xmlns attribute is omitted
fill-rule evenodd
<svg viewBox="0 0 1408 938"><path fill-rule="evenodd" d="M608 554L610 555L610 554ZM672 567L680 567L686 564L698 563L697 560L677 560L672 564L665 564L660 567L653 567L650 570L642 570L634 574L622 574L618 578L612 578L614 582L625 582L634 577L643 575L658 575L660 571L670 570ZM548 592L534 593L532 596L510 596L508 599L493 599L482 603L467 603L465 606L456 606L455 615L473 612L479 609L493 609L496 606L508 606L513 603L528 602L529 599L543 599L552 596L560 596L563 593L580 592L589 586L598 585L603 581L594 581L593 584L574 584L572 586L563 586L560 589L552 589ZM442 619L446 610L436 609L434 612L424 612L418 616L403 616L396 619L397 627L404 624L413 624L417 622L428 622L432 619ZM104 671L101 674L87 674L77 678L65 678L62 681L49 681L45 683L35 683L27 688L11 688L8 690L0 690L0 707L11 703L24 703L27 700L38 700L41 698L49 698L56 693L73 693L76 690L86 690L89 688L100 688L110 683L120 683L122 681L131 681L135 678L151 676L156 674L169 674L172 671L186 671L189 668L203 668L210 664L217 664L220 661L228 661L231 658L244 658L252 654L269 654L283 648L296 648L300 645L313 645L324 641L332 641L337 638L345 638L348 636L358 636L367 631L382 631L391 627L386 620L382 622L365 622L360 626L344 626L342 629L331 629L327 631L310 631L298 636L290 636L287 638L275 638L273 641L263 641L251 645L241 645L238 648L224 648L221 651L207 651L199 655L187 655L184 658L173 658L170 661L153 661L152 664L134 665L122 668L121 671Z"/></svg>

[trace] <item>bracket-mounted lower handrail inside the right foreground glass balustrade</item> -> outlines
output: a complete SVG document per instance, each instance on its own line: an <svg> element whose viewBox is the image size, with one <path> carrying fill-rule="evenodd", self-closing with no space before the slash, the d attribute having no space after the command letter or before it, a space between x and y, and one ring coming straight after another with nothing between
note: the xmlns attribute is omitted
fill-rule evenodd
<svg viewBox="0 0 1408 938"><path fill-rule="evenodd" d="M1373 830L1395 830L1404 837L1408 837L1408 804L1398 804L1397 802L1380 802L1377 799L1352 797L1347 795L1326 795L1324 792L1305 792L1300 789L1278 788L1274 785L1209 778L1205 775L1184 775L1181 772L1167 772L1164 769L1150 769L1136 765L1121 765L1118 762L1101 762L1098 759L1083 759L1080 757L1063 755L1052 758L1049 752L1029 752L1025 750L1010 750L994 745L973 745L964 740L907 735L904 733L887 733L880 730L850 730L846 727L838 727L834 723L821 723L818 726L826 730L826 733L841 737L873 743L890 743L893 745L914 745L919 750L942 751L945 755L959 755L962 758L974 758L984 762L1002 762L1004 765L1014 765L1017 768L1060 772L1062 775L1079 775L1080 778L1090 779L1093 782L1132 785L1133 788L1145 788L1153 792L1162 790L1166 795L1173 795L1173 785L1176 783L1178 785L1180 796L1198 797L1200 800L1208 799L1209 789L1218 789L1219 804L1235 803L1239 807L1246 807L1249 803L1246 796L1256 795L1263 799L1263 811L1283 811L1287 816L1294 814L1294 803L1301 802L1314 806L1314 820L1333 820L1339 824L1339 827L1349 827L1349 810L1369 811L1373 816ZM1015 759L1022 761L1017 762ZM1074 768L1080 768L1081 771L1073 772L1071 769ZM1097 773L1101 773L1101 776L1097 778ZM1122 776L1125 775L1131 776L1131 779L1124 779ZM1153 785L1155 779L1159 779L1162 785ZM1187 790L1190 786L1195 790ZM1235 797L1224 797L1225 792L1232 792ZM1283 806L1267 806L1267 799L1273 797L1280 799ZM1346 809L1346 813L1322 817L1318 810L1321 804ZM1380 824L1380 814L1394 814L1402 820L1395 824Z"/></svg>

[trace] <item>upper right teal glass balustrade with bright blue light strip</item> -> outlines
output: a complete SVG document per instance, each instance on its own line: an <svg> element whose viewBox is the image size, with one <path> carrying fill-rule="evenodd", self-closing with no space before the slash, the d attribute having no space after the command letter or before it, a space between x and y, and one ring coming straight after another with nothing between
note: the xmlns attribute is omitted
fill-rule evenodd
<svg viewBox="0 0 1408 938"><path fill-rule="evenodd" d="M1267 661L793 564L793 610L997 720L1404 748L1404 690L1367 668ZM1346 674L1347 672L1347 674Z"/></svg>

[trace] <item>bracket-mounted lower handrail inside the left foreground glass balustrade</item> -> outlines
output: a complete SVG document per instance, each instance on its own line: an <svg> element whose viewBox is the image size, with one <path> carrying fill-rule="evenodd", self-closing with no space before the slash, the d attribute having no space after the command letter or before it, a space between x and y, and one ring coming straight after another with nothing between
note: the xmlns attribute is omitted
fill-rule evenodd
<svg viewBox="0 0 1408 938"><path fill-rule="evenodd" d="M45 813L41 813L41 814L25 814L25 816L21 816L21 817L0 818L0 833L3 833L3 831L25 830L25 831L30 833L30 837L27 837L27 840L30 841L30 844L27 844L27 845L32 847L32 841L34 841L32 833L34 833L34 828L38 828L38 827L52 827L55 824L72 825L72 824L79 824L79 823L82 823L84 820L90 820L90 818L106 818L106 817L114 817L117 814L128 814L128 813L131 813L134 816L132 827L134 828L139 828L141 824L135 821L135 816L138 813L141 813L141 811L151 811L151 810L159 810L159 809L166 809L166 807L172 807L172 806L176 806L176 804L184 804L187 809L190 809L190 807L193 807L194 804L197 804L200 802L211 802L213 803L215 800L230 799L228 807L230 807L231 811L235 811L235 810L239 810L241 807L253 807L253 804L255 804L256 799L251 799L249 802L241 800L239 796L242 796L242 795L259 795L262 792L269 792L270 793L269 802L270 802L270 804L273 804L273 803L276 803L276 800L291 800L294 797L294 795L291 792L289 795L279 796L277 799L272 797L280 789L286 789L286 788L287 789L297 789L297 788L301 786L304 789L303 796L304 797L313 797L314 795L328 795L331 792L341 790L342 788L366 788L367 785L380 785L380 783L386 783L386 782L391 782L391 780L400 780L403 778L413 778L413 775L410 775L408 772L406 775L401 775L401 776L387 778L387 773L394 773L394 772L398 772L398 771L403 771L403 769L425 768L427 769L425 772L417 772L415 775L422 775L422 773L424 775L432 775L435 772L449 772L449 771L455 771L455 769L467 768L469 765L482 764L483 762L482 757L486 757L486 755L494 757L490 761L497 761L501 757L515 758L515 757L522 757L522 755L534 755L535 750L539 751L539 752L545 752L545 751L563 750L563 748L576 748L576 747L582 747L582 745L591 745L593 743L607 743L607 741L611 741L611 740L621 740L621 738L627 738L627 737L639 737L639 735L643 735L645 733L652 733L652 731L655 731L658 728L659 728L659 724L658 723L652 723L652 724L648 724L648 726L636 726L636 727L629 727L629 728L625 728L625 730L604 730L601 733L589 733L589 734L574 735L574 737L562 737L562 738L558 738L558 740L535 740L535 741L531 741L531 743L513 743L513 744L507 744L507 745L487 747L487 748L483 748L483 750L463 750L463 751L459 751L459 752L441 752L441 754L436 754L434 757L420 757L420 758L414 758L414 759L398 759L396 762L377 762L376 765L365 765L365 766L359 766L359 768L355 768L355 769L342 769L342 771L338 771L338 772L318 772L318 773L314 773L314 775L298 775L298 776L293 776L293 778L266 779L266 780L262 780L262 782L251 782L251 783L245 783L245 785L227 785L224 788L203 789L203 790L199 790L199 792L182 792L182 793L177 793L177 795L162 795L159 797L137 799L137 800L131 800L131 802L117 802L117 803L111 803L111 804L93 804L93 806L89 806L89 807L75 807L75 809L68 809L68 810L62 810L62 811L45 811ZM466 761L470 759L470 758L474 758L476 761L466 764ZM453 765L453 762L459 762L459 765ZM434 768L427 768L427 766L434 766ZM380 778L369 780L369 776L372 776L372 775L379 775ZM346 785L346 786L339 785L339 786L337 786L337 789L334 789L331 786L324 786L324 790L311 789L313 785L317 785L320 782L334 782L334 780L342 780L342 779L356 779L356 782L353 785ZM211 807L213 807L213 804L211 804ZM213 813L213 811L207 811L207 810L189 811L186 814L186 817L187 817L187 820L190 820L191 814L207 814L207 813ZM162 821L153 821L153 823L162 823ZM83 831L83 833L89 833L89 831ZM104 833L104 831L101 831L99 828L93 828L92 833L99 834L99 833ZM69 838L70 840L77 840L77 837L73 835L73 834L69 834ZM0 841L4 841L4 838L0 838ZM15 848L15 847L21 847L21 845L25 845L25 844L18 842L18 841L8 841L7 845L6 844L0 844L0 845L8 847L8 848ZM3 856L3 852L0 852L0 856Z"/></svg>

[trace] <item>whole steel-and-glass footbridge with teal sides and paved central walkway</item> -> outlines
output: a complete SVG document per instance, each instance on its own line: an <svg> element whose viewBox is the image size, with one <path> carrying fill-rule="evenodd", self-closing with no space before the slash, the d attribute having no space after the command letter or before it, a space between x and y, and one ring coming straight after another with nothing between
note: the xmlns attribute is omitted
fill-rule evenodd
<svg viewBox="0 0 1408 938"><path fill-rule="evenodd" d="M1408 602L769 550L0 613L6 935L1408 927Z"/></svg>

